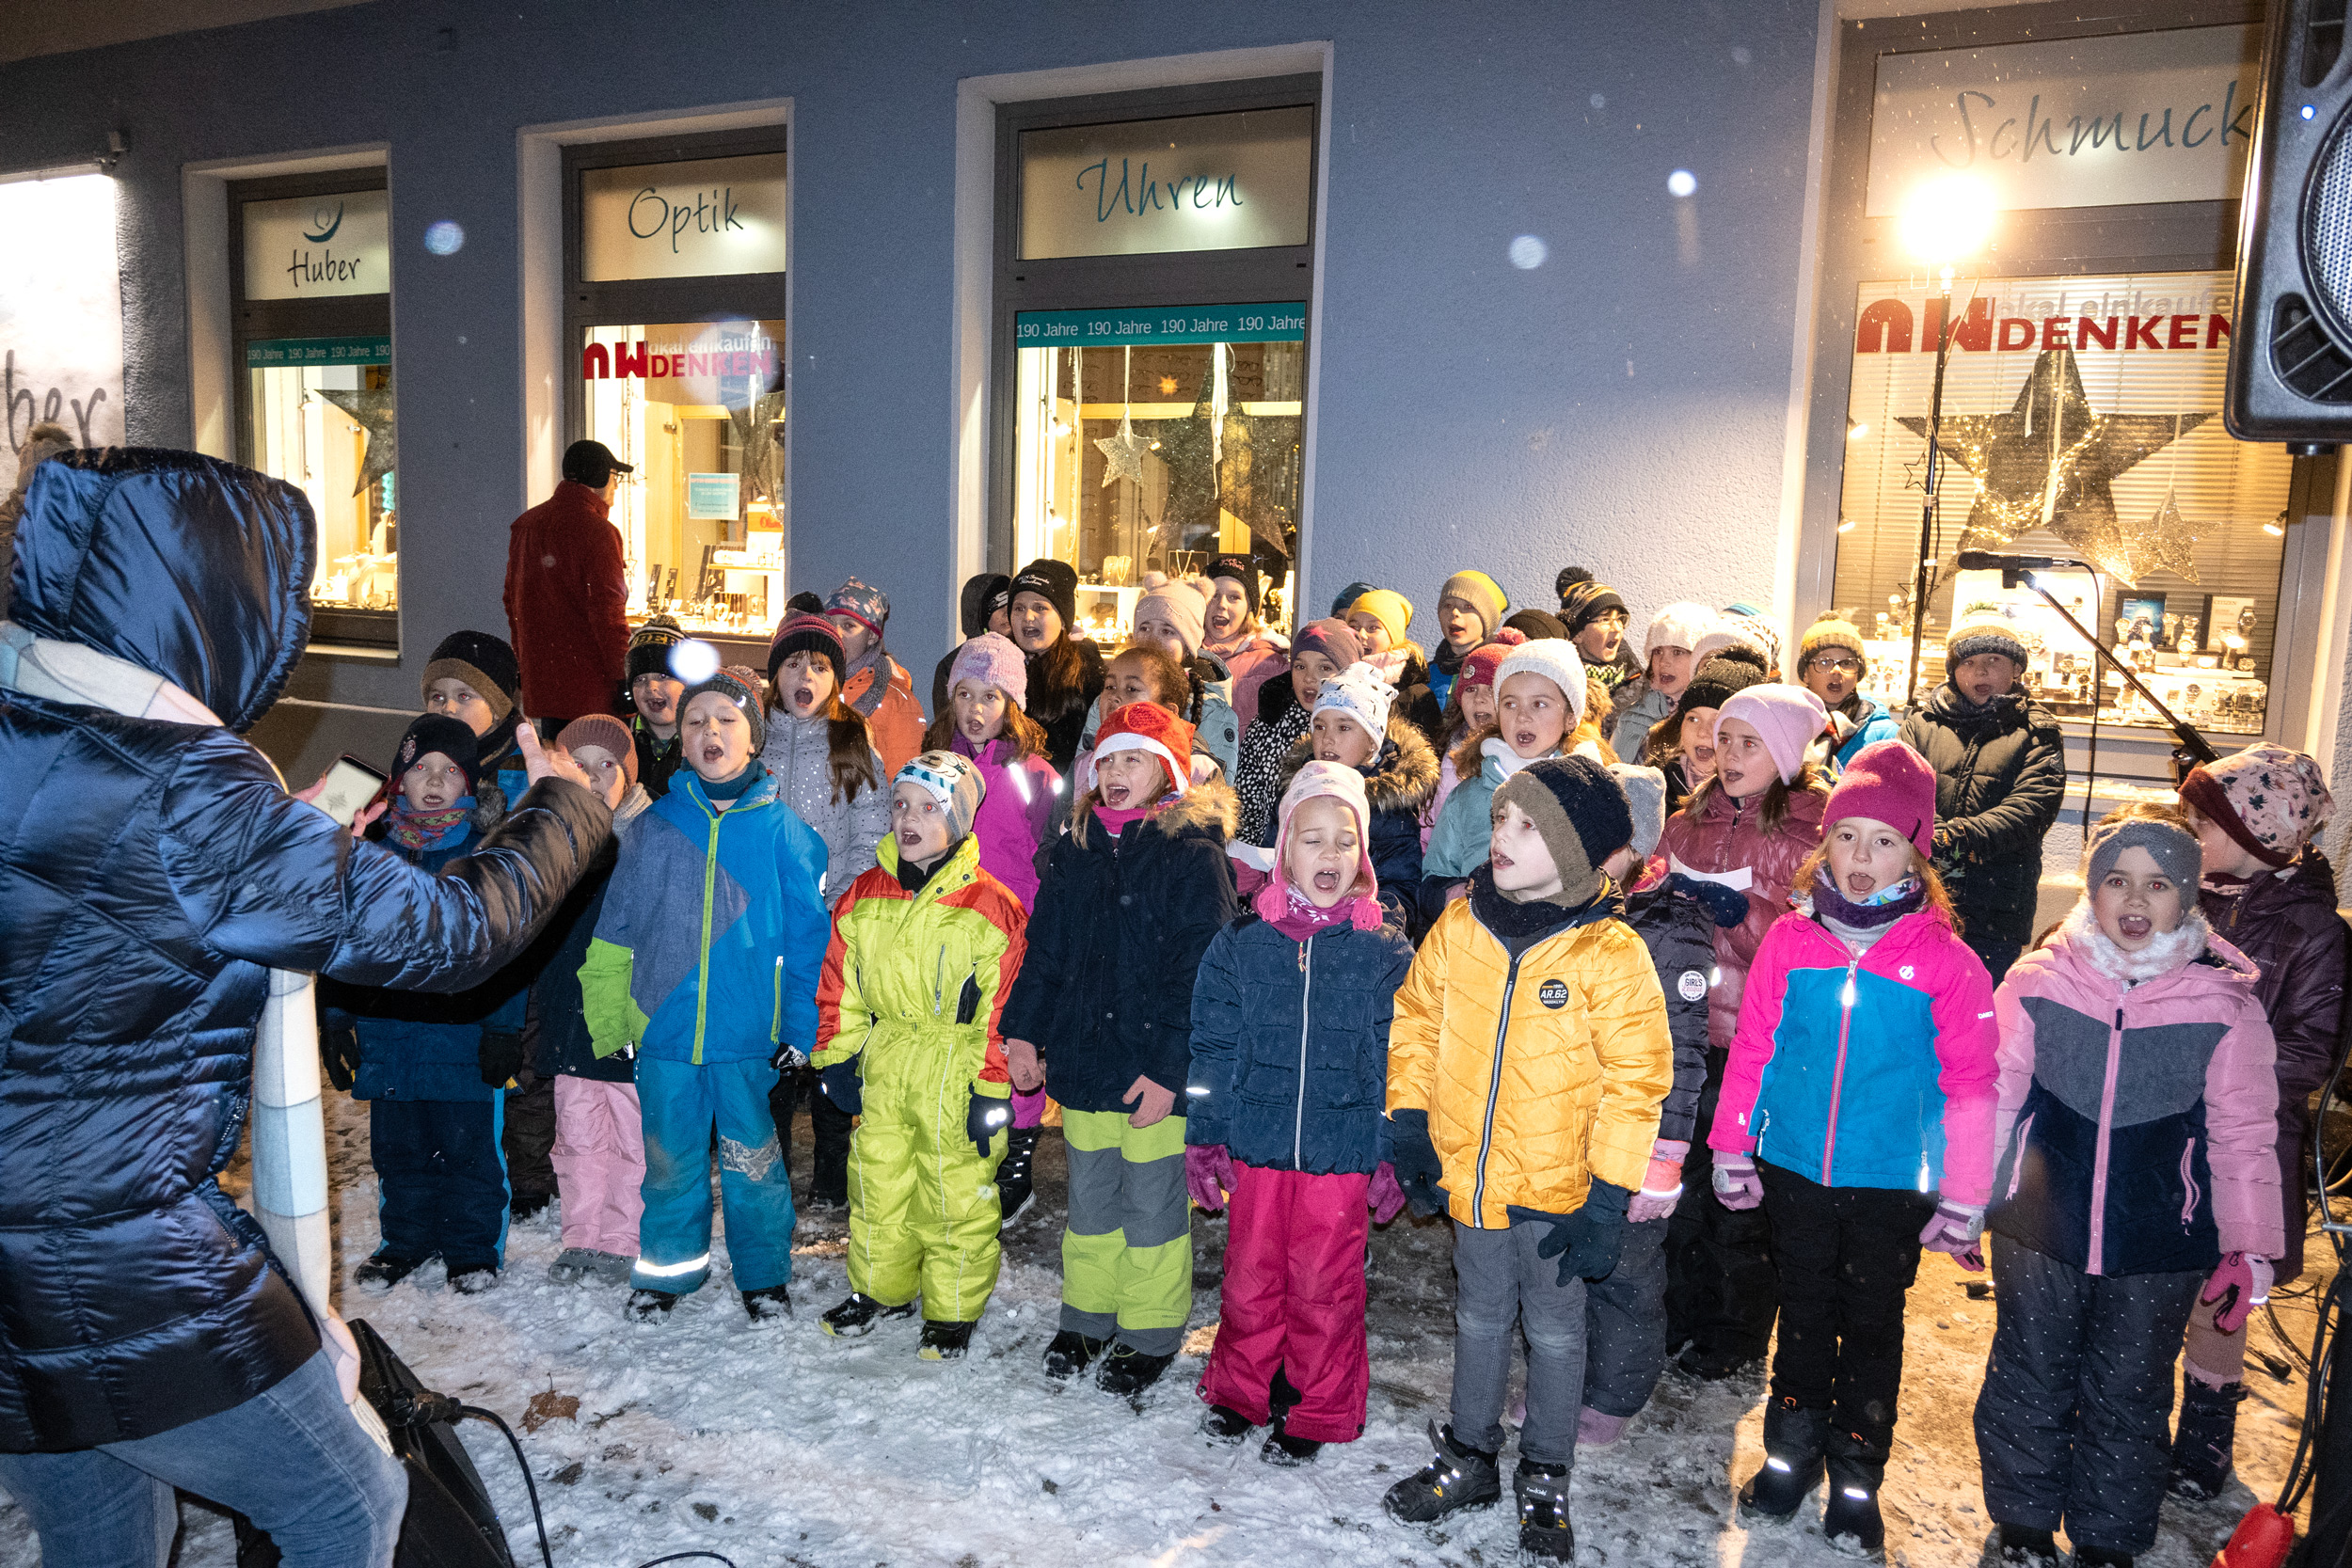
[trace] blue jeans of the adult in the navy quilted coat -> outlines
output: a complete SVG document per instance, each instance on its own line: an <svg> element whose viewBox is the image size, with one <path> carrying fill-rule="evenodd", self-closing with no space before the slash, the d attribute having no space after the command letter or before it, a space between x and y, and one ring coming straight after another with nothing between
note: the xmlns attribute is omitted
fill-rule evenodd
<svg viewBox="0 0 2352 1568"><path fill-rule="evenodd" d="M360 1432L320 1352L240 1406L78 1453L0 1453L42 1568L165 1568L172 1488L268 1530L285 1568L388 1568L409 1502L400 1460Z"/></svg>

